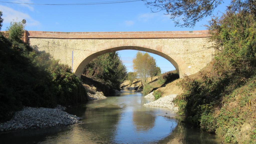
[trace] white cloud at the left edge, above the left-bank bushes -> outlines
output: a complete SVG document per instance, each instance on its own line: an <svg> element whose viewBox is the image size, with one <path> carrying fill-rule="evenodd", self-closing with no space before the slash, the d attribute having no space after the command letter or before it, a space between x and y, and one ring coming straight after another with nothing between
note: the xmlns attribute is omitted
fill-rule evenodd
<svg viewBox="0 0 256 144"><path fill-rule="evenodd" d="M12 21L21 22L22 19L26 19L28 26L38 26L40 22L31 18L28 14L16 11L10 7L0 5L0 10L3 12L4 23L10 23Z"/></svg>

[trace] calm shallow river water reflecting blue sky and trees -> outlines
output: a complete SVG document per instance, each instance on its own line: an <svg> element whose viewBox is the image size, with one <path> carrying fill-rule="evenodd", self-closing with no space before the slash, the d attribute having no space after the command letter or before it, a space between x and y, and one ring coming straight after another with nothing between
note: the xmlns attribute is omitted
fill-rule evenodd
<svg viewBox="0 0 256 144"><path fill-rule="evenodd" d="M83 118L81 124L10 131L0 135L0 143L221 143L216 135L185 126L172 110L143 106L150 101L125 90L68 108Z"/></svg>

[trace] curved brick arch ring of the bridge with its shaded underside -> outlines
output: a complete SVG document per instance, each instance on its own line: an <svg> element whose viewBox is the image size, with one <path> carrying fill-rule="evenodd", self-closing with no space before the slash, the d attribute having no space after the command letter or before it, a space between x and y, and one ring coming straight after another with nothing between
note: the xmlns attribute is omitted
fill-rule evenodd
<svg viewBox="0 0 256 144"><path fill-rule="evenodd" d="M137 39L115 40L113 42L103 43L94 46L89 53L80 53L77 59L74 60L75 75L81 77L86 65L97 56L103 55L105 53L128 49L140 50L159 55L167 59L175 67L180 78L182 78L184 74L189 75L189 70L184 60L178 55L175 55L173 52L169 51L167 47L161 44L155 44L152 42Z"/></svg>

